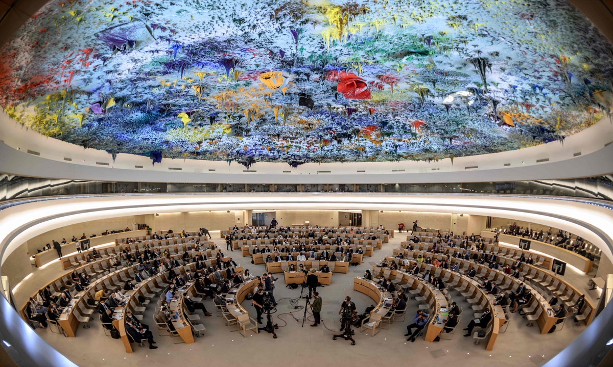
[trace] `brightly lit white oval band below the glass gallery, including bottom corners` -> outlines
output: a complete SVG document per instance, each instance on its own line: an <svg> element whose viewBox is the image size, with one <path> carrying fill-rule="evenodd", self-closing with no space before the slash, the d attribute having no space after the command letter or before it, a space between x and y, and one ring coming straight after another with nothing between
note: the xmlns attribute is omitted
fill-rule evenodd
<svg viewBox="0 0 613 367"><path fill-rule="evenodd" d="M421 212L468 213L542 223L562 228L589 240L613 258L613 210L566 198L531 198L497 195L407 195L407 194L209 194L209 195L117 195L29 202L0 211L2 262L26 240L59 226L100 218L146 213L240 209L348 209L418 210ZM613 306L546 366L579 366L581 354L613 321ZM610 325L609 325L610 326ZM20 354L40 366L72 366L59 352L36 335L15 310L0 298L0 336ZM40 353L43 350L44 353ZM571 364L569 364L571 363ZM582 365L582 364L581 364Z"/></svg>

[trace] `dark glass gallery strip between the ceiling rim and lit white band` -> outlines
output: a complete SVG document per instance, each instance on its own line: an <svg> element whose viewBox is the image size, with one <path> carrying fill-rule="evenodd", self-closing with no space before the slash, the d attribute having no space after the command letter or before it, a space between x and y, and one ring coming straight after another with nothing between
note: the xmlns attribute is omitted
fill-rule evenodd
<svg viewBox="0 0 613 367"><path fill-rule="evenodd" d="M39 196L117 193L481 193L554 195L611 201L611 176L566 180L466 182L456 184L189 184L42 179L0 174L0 201Z"/></svg>

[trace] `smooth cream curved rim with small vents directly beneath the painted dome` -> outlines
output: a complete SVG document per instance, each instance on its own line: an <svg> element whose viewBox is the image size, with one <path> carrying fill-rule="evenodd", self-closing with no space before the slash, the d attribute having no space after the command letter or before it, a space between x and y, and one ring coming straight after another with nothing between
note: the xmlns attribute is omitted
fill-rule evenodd
<svg viewBox="0 0 613 367"><path fill-rule="evenodd" d="M450 182L501 182L518 180L548 180L568 179L574 177L602 176L613 172L613 144L596 150L592 154L578 157L549 161L536 165L520 165L499 169L471 169L461 166L462 171L432 172L437 168L401 169L405 173L392 173L392 169L379 170L373 167L376 174L360 173L351 169L351 164L338 165L344 172L336 174L337 169L326 169L324 165L320 171L315 168L312 173L291 171L286 174L258 171L246 171L236 163L230 166L224 164L228 173L218 173L219 169L211 172L178 171L172 164L156 166L148 169L120 169L112 166L75 165L64 161L48 160L34 154L27 154L21 150L13 149L0 142L0 172L15 174L17 176L44 177L50 179L79 179L102 181L132 181L132 182L177 182L177 183L210 183L210 184L417 184L417 183L450 183ZM470 157L469 157L470 158ZM534 159L533 159L534 160ZM219 163L219 162L215 162ZM334 164L334 163L332 163ZM377 165L378 163L371 163ZM471 167L471 166L468 166ZM472 166L474 167L474 166ZM173 169L175 168L175 169ZM194 169L192 169L194 171ZM202 171L202 169L200 169ZM281 172L281 169L277 169ZM291 171L291 173L289 173ZM411 172L417 171L417 172ZM443 172L441 172L443 171ZM389 173L387 173L389 172Z"/></svg>

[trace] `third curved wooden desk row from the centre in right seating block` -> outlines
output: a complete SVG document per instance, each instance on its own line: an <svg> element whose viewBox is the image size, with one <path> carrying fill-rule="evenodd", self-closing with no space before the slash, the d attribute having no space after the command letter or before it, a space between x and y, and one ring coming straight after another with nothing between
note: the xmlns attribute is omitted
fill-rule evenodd
<svg viewBox="0 0 613 367"><path fill-rule="evenodd" d="M398 262L400 259L387 257L388 261ZM479 287L479 283L476 280L468 278L460 273L454 273L451 270L441 269L433 267L432 265L426 265L422 262L417 262L414 260L409 260L409 267L413 267L414 265L419 266L419 272L421 274L425 274L425 272L430 272L430 270L435 270L435 277L439 278L443 276L443 281L455 283L457 286L461 286L462 289L466 292L470 292L467 298L475 298L478 300L478 305L484 305L489 308L490 313L492 313L492 331L490 333L489 339L487 341L487 346L485 349L492 350L496 339L498 338L498 333L500 332L500 327L506 322L506 317L504 316L504 311L500 305L493 305L494 297L492 295L485 294L485 292ZM390 270L390 269L382 269L381 267L373 266L373 276L379 273L376 271L376 268L380 271L383 271L384 276L387 275L387 278L395 279L395 275L397 276L398 270ZM389 272L389 273L388 273ZM404 280L403 280L404 281ZM399 285L402 287L402 282Z"/></svg>

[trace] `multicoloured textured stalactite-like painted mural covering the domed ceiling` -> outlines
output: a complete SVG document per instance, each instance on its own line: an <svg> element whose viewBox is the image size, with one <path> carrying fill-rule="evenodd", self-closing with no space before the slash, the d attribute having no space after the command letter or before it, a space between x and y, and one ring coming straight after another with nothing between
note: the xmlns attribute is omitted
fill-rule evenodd
<svg viewBox="0 0 613 367"><path fill-rule="evenodd" d="M52 1L0 105L86 148L306 162L563 141L613 112L613 48L566 0Z"/></svg>

